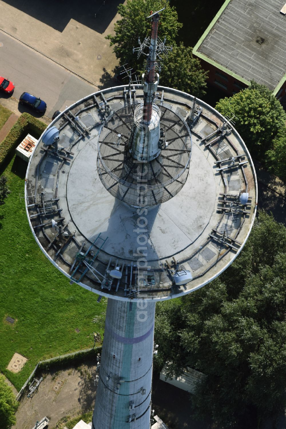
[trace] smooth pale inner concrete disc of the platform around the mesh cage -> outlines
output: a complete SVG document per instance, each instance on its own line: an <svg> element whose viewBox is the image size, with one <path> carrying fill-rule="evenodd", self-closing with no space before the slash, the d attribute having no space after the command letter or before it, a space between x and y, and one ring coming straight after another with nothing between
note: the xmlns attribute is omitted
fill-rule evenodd
<svg viewBox="0 0 286 429"><path fill-rule="evenodd" d="M150 240L146 243L148 260L165 259L180 253L193 244L207 227L220 185L206 155L208 151L202 151L193 144L190 171L181 192L148 211L148 224L142 228L142 233L150 236L153 243L153 246ZM90 242L99 233L102 238L108 236L104 248L106 253L135 260L138 214L102 187L96 157L96 146L87 144L72 162L66 184L70 216L78 231Z"/></svg>

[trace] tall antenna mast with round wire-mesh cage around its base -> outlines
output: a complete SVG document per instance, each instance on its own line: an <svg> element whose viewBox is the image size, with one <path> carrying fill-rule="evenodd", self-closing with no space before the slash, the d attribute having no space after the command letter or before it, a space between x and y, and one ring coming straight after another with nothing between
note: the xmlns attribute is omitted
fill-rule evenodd
<svg viewBox="0 0 286 429"><path fill-rule="evenodd" d="M110 123L102 127L98 143L97 169L103 186L132 208L138 207L143 195L148 208L168 201L184 186L189 171L190 130L178 112L155 101L159 62L172 49L166 46L166 38L162 41L158 37L162 10L148 16L152 20L151 36L142 43L138 39L139 47L133 48L138 57L147 56L142 75L143 100L114 112L108 118ZM123 68L130 84L131 69L126 64ZM182 133L182 127L187 133Z"/></svg>

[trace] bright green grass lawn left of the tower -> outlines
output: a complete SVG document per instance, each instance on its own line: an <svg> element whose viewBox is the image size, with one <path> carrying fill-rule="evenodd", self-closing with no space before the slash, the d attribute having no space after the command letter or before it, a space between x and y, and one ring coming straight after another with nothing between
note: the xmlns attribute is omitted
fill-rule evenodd
<svg viewBox="0 0 286 429"><path fill-rule="evenodd" d="M11 193L0 206L0 371L18 390L39 360L92 347L92 333L102 336L107 302L70 285L40 251L20 199L26 169L12 158L3 171ZM18 374L6 370L15 352L28 359Z"/></svg>

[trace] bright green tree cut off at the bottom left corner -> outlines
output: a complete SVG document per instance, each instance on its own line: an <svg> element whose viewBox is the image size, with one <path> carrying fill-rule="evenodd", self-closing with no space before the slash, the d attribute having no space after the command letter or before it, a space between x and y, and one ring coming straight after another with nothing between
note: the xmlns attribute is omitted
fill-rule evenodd
<svg viewBox="0 0 286 429"><path fill-rule="evenodd" d="M11 387L6 384L5 377L0 375L0 428L10 429L15 425L15 412L18 402L12 392Z"/></svg>

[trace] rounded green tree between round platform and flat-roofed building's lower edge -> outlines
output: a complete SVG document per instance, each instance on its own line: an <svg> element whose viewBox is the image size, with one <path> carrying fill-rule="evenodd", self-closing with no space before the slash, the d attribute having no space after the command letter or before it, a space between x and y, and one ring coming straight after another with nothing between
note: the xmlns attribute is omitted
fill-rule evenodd
<svg viewBox="0 0 286 429"><path fill-rule="evenodd" d="M222 115L235 115L235 128L250 152L263 159L273 148L272 141L285 128L286 113L265 85L252 81L249 88L221 99L216 109Z"/></svg>

